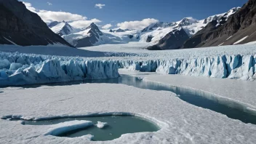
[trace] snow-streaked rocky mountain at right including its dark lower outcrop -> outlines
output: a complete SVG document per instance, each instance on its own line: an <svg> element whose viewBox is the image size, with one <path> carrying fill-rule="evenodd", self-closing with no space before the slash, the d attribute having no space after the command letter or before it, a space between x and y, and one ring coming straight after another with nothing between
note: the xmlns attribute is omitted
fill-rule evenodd
<svg viewBox="0 0 256 144"><path fill-rule="evenodd" d="M196 36L195 34L201 33L205 30L209 31L209 29L217 28L223 25L223 23L228 20L228 17L233 15L238 9L240 9L240 7L233 8L223 14L212 15L205 18L204 20L196 20L193 19L193 17L185 17L183 20L177 21L175 23L169 23L167 28L165 28L165 25L167 25L166 23L164 26L160 25L160 28L145 28L146 30L159 30L163 28L159 31L171 31L169 33L161 33L162 36L159 35L159 33L155 33L154 31L150 35L147 33L146 35L148 35L149 38L154 41L153 46L148 47L148 49L180 49L183 47L184 42L189 41L190 37ZM145 29L143 31L145 31ZM175 34L173 31L176 31ZM188 47L190 47L190 45L196 44L195 41L196 40L191 41L188 44Z"/></svg>

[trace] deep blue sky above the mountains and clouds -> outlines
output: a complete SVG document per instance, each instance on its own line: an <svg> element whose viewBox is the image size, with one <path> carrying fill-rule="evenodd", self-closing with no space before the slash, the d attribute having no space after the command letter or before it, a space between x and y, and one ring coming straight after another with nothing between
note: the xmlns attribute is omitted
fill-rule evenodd
<svg viewBox="0 0 256 144"><path fill-rule="evenodd" d="M193 17L198 20L241 7L247 0L24 0L36 9L62 11L97 19L97 25L151 18L164 22ZM49 4L50 3L50 4ZM95 7L95 4L105 4ZM93 20L92 20L93 21ZM152 21L152 20L148 20ZM145 22L146 23L146 22Z"/></svg>

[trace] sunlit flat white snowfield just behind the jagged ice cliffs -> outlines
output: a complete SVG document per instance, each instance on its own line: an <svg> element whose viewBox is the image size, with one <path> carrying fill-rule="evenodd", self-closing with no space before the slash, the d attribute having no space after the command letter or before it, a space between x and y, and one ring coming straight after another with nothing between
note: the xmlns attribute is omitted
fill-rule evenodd
<svg viewBox="0 0 256 144"><path fill-rule="evenodd" d="M212 57L221 55L255 55L255 44L241 44L233 46L220 46L220 47L207 47L207 48L194 48L194 49L175 49L175 50L163 50L163 51L149 51L145 49L148 43L143 42L130 42L129 44L105 44L95 47L83 47L79 49L85 49L97 52L126 52L144 54L147 57L143 57L143 60L157 60L168 58L196 58L196 57ZM105 57L104 57L105 58ZM116 58L116 57L115 57ZM140 60L141 57L119 57L124 60Z"/></svg>

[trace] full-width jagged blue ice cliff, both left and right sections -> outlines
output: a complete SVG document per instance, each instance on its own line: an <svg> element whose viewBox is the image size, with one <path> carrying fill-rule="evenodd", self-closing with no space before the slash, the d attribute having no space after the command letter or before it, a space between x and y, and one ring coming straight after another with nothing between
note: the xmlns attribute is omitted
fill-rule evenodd
<svg viewBox="0 0 256 144"><path fill-rule="evenodd" d="M0 86L117 78L118 68L245 81L256 79L256 55L153 59L152 57L152 60L115 60L113 57L108 60L97 60L0 52Z"/></svg>

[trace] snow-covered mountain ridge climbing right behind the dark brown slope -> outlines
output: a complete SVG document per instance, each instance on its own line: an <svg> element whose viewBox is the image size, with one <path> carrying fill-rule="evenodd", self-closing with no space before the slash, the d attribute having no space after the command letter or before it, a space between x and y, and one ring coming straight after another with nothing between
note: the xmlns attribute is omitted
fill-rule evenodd
<svg viewBox="0 0 256 144"><path fill-rule="evenodd" d="M235 7L233 9L230 9L228 12L225 12L220 15L212 15L210 17L205 18L204 20L196 20L193 17L185 17L180 21L172 23L172 25L167 28L158 27L158 28L154 28L152 31L148 33L143 33L143 35L141 36L141 38L143 39L141 40L147 41L148 38L151 38L151 42L154 46L153 49L156 49L156 47L158 47L157 49L178 49L182 47L183 43L187 41L191 36L195 35L199 31L201 31L203 28L205 28L205 26L207 26L208 23L211 23L212 21L216 21L214 25L215 27L217 27L218 25L223 25L223 23L225 23L228 20L228 17L233 15L239 9L240 7ZM182 31L185 31L185 33L188 36L184 36L185 34L182 32L180 32L181 34L180 36L177 36L178 34L176 34L175 36L182 37L183 42L181 41L181 39L173 39L171 36L167 36L167 34L169 34L170 31L175 31L175 30L180 31L181 30L180 27ZM184 39L185 37L187 37L188 39ZM164 44L164 43L172 43L172 44ZM148 47L148 49L152 49L152 47Z"/></svg>

